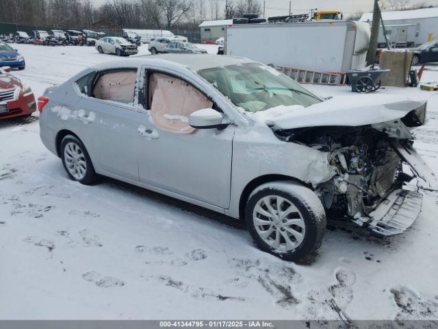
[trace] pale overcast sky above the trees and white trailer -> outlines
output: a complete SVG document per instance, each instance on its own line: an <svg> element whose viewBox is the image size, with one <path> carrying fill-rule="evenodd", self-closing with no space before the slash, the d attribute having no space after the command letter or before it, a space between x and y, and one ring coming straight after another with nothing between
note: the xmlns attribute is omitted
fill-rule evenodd
<svg viewBox="0 0 438 329"><path fill-rule="evenodd" d="M129 0L128 0L129 1ZM219 0L224 6L226 0ZM238 1L238 0L237 0ZM259 0L263 5L263 0ZM95 5L105 3L105 0L92 0ZM205 0L209 5L210 0ZM292 12L294 14L308 13L311 8L318 10L339 10L346 16L354 14L357 10L371 12L374 0L293 0ZM438 5L438 0L410 0L410 3L427 3L429 5ZM266 17L281 16L289 12L289 0L266 0Z"/></svg>

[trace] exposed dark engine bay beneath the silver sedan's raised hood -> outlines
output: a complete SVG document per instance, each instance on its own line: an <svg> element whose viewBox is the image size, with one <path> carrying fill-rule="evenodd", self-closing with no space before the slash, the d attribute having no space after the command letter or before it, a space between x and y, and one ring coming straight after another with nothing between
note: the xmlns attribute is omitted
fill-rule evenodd
<svg viewBox="0 0 438 329"><path fill-rule="evenodd" d="M309 127L276 130L283 141L328 152L335 175L315 190L329 215L348 215L359 225L370 212L413 176L403 173L402 159L384 132L371 126Z"/></svg>

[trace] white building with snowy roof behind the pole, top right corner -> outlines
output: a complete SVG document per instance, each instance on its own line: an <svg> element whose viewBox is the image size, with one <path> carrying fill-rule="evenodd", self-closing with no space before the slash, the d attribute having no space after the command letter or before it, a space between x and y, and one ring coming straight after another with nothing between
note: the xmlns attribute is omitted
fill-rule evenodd
<svg viewBox="0 0 438 329"><path fill-rule="evenodd" d="M382 12L382 19L385 27L390 27L391 25L396 27L402 25L415 25L415 36L412 37L405 35L411 34L411 30L414 29L414 27L409 27L402 32L402 36L398 37L400 38L400 41L398 42L403 42L407 39L410 45L422 45L423 43L428 42L429 34L433 34L433 38L438 38L438 8ZM371 25L372 12L363 14L361 22L367 22ZM397 32L391 32L391 34L394 33ZM380 32L380 34L381 35L378 39L379 44L385 42L383 39L383 32Z"/></svg>

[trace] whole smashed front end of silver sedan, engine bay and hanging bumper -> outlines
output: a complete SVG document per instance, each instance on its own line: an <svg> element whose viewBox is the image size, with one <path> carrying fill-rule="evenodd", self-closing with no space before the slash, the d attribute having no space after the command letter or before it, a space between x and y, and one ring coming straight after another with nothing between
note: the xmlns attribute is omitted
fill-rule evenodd
<svg viewBox="0 0 438 329"><path fill-rule="evenodd" d="M329 216L390 236L417 219L421 190L438 190L435 173L412 147L411 130L426 122L426 102L420 104L406 110L393 103L404 117L381 123L272 130L283 141L328 154L331 178L313 188Z"/></svg>

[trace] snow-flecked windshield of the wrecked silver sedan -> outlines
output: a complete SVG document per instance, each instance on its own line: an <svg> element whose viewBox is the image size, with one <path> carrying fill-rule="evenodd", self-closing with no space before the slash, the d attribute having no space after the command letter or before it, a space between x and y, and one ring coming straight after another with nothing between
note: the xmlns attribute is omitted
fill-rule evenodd
<svg viewBox="0 0 438 329"><path fill-rule="evenodd" d="M198 71L235 106L259 112L276 106L311 106L322 99L272 69L257 63L214 67Z"/></svg>

